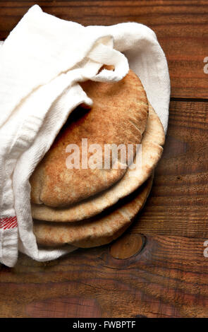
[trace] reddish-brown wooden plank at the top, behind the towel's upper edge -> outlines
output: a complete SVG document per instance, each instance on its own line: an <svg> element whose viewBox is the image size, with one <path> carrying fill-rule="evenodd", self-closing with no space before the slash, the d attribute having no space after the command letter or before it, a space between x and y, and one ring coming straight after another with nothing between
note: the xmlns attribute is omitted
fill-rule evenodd
<svg viewBox="0 0 208 332"><path fill-rule="evenodd" d="M169 62L173 97L207 98L207 1L1 1L0 40L33 4L82 25L135 21L152 28ZM154 65L154 64L153 64Z"/></svg>

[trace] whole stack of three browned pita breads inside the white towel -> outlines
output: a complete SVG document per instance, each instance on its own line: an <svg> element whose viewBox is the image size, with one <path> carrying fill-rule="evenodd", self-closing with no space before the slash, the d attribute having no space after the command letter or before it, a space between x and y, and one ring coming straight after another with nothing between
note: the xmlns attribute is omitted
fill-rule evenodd
<svg viewBox="0 0 208 332"><path fill-rule="evenodd" d="M34 233L43 246L97 247L119 237L144 206L163 151L163 126L133 71L117 83L80 85L92 108L73 110L30 178ZM115 169L110 156L108 169L68 169L66 147L76 144L81 151L82 138L102 148L132 144L134 162L142 144L142 167L133 170L118 158Z"/></svg>

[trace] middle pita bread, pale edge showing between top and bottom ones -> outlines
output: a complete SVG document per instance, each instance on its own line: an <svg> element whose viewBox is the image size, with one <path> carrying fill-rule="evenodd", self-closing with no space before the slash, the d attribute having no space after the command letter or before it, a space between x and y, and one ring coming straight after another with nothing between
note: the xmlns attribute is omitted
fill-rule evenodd
<svg viewBox="0 0 208 332"><path fill-rule="evenodd" d="M82 201L68 208L49 208L32 204L32 216L38 220L54 222L75 222L101 213L105 208L114 205L119 199L129 195L149 177L161 158L164 145L164 129L151 105L147 128L142 138L142 169L128 169L124 177L110 189L93 198Z"/></svg>

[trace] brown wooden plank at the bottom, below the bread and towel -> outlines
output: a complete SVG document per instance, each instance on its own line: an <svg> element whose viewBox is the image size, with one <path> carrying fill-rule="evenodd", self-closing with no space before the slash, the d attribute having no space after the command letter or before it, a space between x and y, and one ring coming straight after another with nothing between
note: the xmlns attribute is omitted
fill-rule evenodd
<svg viewBox="0 0 208 332"><path fill-rule="evenodd" d="M1 317L208 316L204 239L147 236L140 254L114 259L108 247L1 267Z"/></svg>

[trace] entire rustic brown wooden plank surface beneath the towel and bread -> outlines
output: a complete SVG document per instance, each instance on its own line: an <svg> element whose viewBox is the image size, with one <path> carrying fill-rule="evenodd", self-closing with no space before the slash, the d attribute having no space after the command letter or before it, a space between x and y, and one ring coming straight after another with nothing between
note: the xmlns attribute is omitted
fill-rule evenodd
<svg viewBox="0 0 208 332"><path fill-rule="evenodd" d="M126 235L49 263L20 255L15 268L0 266L0 316L207 317L207 1L0 1L0 40L35 3L83 25L154 29L171 74L169 130L152 193Z"/></svg>

